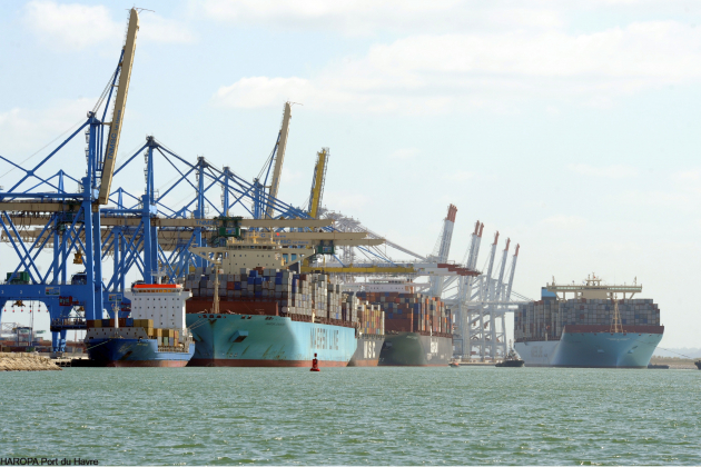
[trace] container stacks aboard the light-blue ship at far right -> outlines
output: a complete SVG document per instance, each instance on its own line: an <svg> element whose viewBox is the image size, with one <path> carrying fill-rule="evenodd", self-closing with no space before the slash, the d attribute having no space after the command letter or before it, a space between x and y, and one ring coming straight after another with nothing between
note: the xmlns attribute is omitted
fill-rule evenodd
<svg viewBox="0 0 701 467"><path fill-rule="evenodd" d="M626 326L660 326L660 309L652 299L634 298L619 301L623 330ZM559 340L566 325L611 325L614 305L608 299L576 298L566 301L544 299L520 305L514 312L514 338Z"/></svg>

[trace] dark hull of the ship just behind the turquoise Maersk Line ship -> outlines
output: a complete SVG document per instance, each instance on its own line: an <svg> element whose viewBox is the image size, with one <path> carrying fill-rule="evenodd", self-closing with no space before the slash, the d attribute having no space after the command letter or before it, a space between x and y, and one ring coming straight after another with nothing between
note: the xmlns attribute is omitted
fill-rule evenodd
<svg viewBox="0 0 701 467"><path fill-rule="evenodd" d="M385 336L379 366L442 367L447 366L452 357L452 338L398 332Z"/></svg>

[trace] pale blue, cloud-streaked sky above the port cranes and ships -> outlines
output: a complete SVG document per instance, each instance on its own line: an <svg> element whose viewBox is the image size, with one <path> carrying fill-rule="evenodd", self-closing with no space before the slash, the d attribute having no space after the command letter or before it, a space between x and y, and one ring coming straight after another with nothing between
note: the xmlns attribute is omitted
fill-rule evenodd
<svg viewBox="0 0 701 467"><path fill-rule="evenodd" d="M85 120L117 64L131 7L0 3L0 156L37 163ZM521 245L521 295L537 299L553 278L636 280L660 306L661 347L699 347L701 3L137 7L120 160L154 135L188 160L205 156L251 180L289 100L283 200L304 205L316 152L328 147L327 209L430 254L454 203L451 260L463 261L480 220L478 268L497 230L498 250L505 238ZM46 169L80 176L83 146L68 145ZM142 190L140 163L115 183ZM17 177L9 169L0 163L6 187ZM158 172L156 185L171 175ZM3 271L13 262L1 247Z"/></svg>

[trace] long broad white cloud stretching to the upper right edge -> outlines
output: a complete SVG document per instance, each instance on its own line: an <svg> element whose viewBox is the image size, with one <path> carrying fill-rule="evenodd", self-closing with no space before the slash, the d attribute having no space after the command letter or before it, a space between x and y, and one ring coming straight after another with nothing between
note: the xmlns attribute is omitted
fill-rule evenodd
<svg viewBox="0 0 701 467"><path fill-rule="evenodd" d="M277 106L294 99L328 110L510 112L526 100L611 106L620 96L701 79L701 28L638 22L589 34L560 30L419 34L377 43L365 57L310 77L249 77L214 101Z"/></svg>

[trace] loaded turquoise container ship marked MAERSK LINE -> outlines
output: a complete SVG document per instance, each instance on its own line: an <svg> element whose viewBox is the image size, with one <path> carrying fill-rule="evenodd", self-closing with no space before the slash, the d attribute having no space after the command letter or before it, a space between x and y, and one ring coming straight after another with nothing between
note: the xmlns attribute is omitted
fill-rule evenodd
<svg viewBox="0 0 701 467"><path fill-rule="evenodd" d="M300 367L315 354L320 367L378 359L372 351L377 339L371 337L382 331L375 326L378 314L364 315L367 306L344 295L328 275L285 269L283 255L305 250L255 236L192 250L221 260L185 281L192 292L187 326L197 342L190 366ZM356 355L358 347L367 352Z"/></svg>

